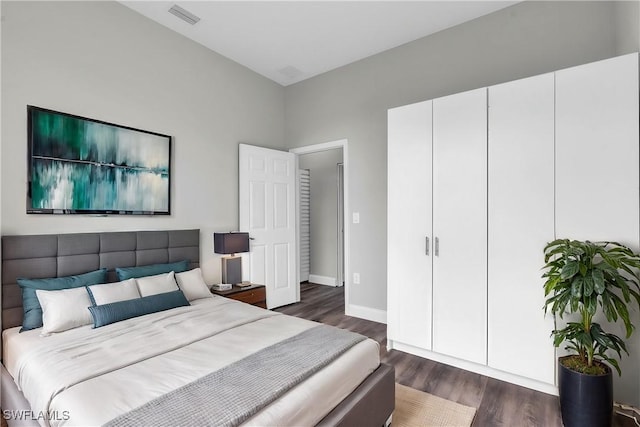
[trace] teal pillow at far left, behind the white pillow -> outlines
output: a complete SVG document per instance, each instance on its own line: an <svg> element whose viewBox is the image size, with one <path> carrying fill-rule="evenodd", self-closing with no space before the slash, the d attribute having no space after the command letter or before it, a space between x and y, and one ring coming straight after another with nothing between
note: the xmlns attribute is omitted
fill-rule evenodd
<svg viewBox="0 0 640 427"><path fill-rule="evenodd" d="M81 286L97 285L107 280L107 269L91 271L75 276L53 277L49 279L19 278L18 285L22 288L22 328L20 332L40 328L42 326L42 307L36 290L59 291L61 289L79 288Z"/></svg>

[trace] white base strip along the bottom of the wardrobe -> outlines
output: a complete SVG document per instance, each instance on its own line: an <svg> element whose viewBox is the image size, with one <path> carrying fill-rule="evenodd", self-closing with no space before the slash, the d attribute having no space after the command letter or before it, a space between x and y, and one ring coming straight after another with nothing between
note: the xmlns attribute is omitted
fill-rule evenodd
<svg viewBox="0 0 640 427"><path fill-rule="evenodd" d="M479 365L467 360L457 359L455 357L435 353L433 351L414 347L412 345L404 344L398 341L387 339L387 349L403 351L405 353L410 353L415 356L423 357L425 359L434 360L436 362L464 369L465 371L475 372L476 374L485 375L487 377L530 388L532 390L537 390L542 393L547 393L555 396L558 395L558 387L553 384L547 384L538 380L534 380L532 378L521 377L520 375L500 371L486 365Z"/></svg>

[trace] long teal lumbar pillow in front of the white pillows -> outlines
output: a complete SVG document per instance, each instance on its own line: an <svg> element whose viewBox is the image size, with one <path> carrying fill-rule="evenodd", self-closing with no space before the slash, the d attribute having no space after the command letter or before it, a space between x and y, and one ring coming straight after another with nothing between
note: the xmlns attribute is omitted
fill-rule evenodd
<svg viewBox="0 0 640 427"><path fill-rule="evenodd" d="M93 327L99 328L121 320L131 319L132 317L188 305L191 304L189 304L182 291L173 291L110 304L90 306L89 311L93 316Z"/></svg>

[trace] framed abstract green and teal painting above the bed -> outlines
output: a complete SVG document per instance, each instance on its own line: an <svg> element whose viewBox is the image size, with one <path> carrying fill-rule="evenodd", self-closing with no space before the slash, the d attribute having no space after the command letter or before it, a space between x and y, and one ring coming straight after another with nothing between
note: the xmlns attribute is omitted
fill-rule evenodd
<svg viewBox="0 0 640 427"><path fill-rule="evenodd" d="M171 137L29 107L31 211L169 213Z"/></svg>

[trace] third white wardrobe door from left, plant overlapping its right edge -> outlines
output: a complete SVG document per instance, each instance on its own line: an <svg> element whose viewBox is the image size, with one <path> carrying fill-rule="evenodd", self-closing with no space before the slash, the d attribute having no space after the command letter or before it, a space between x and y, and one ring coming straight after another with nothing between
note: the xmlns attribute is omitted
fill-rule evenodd
<svg viewBox="0 0 640 427"><path fill-rule="evenodd" d="M489 88L488 364L547 384L554 327L540 269L554 238L553 132L553 73Z"/></svg>

